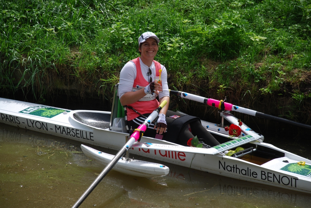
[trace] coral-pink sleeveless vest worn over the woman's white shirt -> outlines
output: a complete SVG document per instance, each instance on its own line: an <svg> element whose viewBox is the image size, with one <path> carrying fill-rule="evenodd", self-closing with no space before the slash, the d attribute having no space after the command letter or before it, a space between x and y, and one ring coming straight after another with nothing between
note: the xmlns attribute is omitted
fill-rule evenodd
<svg viewBox="0 0 311 208"><path fill-rule="evenodd" d="M147 86L149 84L148 81L144 78L142 75L142 69L140 67L140 62L139 62L139 57L135 58L132 60L132 62L135 63L136 65L136 79L134 80L133 88L135 88L137 85L138 86ZM153 60L156 66L156 75L159 76L159 70L161 69L161 65L159 62ZM153 99L150 101L137 101L135 103L129 104L132 108L137 110L139 113L144 114L144 113L152 113L154 109L159 107L160 103L158 102L157 99ZM127 120L133 120L134 118L137 118L139 115L135 113L132 109L127 108Z"/></svg>

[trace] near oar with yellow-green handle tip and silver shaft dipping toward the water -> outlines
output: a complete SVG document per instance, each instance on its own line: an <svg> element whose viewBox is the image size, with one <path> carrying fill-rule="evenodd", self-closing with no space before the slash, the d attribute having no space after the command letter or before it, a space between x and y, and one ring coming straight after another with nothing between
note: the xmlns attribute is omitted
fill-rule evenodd
<svg viewBox="0 0 311 208"><path fill-rule="evenodd" d="M144 123L140 125L137 129L134 130L128 142L121 148L121 150L114 156L114 158L108 163L104 170L99 174L99 176L93 181L93 183L86 189L86 191L80 196L78 201L72 206L72 208L79 207L82 202L86 199L87 196L94 190L94 188L100 183L100 181L107 175L107 173L114 167L119 159L128 151L128 149L136 142L139 138L142 137L143 133L146 131L150 123L156 119L160 110L166 105L167 101L164 100L160 106L155 109L149 116L146 118Z"/></svg>

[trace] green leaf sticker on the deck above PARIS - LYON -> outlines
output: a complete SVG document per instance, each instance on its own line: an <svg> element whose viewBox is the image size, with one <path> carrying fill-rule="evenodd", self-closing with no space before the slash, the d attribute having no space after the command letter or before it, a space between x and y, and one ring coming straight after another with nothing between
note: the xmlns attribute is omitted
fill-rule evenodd
<svg viewBox="0 0 311 208"><path fill-rule="evenodd" d="M19 113L25 113L30 114L34 116L40 116L44 118L53 118L54 116L57 116L58 114L61 114L63 112L70 112L67 110L57 109L57 108L50 108L47 106L34 106L26 108L25 110L20 111Z"/></svg>

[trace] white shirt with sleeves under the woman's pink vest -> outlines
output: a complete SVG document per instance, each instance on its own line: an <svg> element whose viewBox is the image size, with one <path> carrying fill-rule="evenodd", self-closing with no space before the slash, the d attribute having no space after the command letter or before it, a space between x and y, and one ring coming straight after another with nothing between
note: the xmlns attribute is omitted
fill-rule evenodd
<svg viewBox="0 0 311 208"><path fill-rule="evenodd" d="M147 82L150 81L150 77L152 81L154 81L154 77L156 76L156 66L155 63L152 62L150 69L151 75L149 75L149 67L142 62L142 59L139 58L140 68L142 70L142 75L146 79ZM161 79L162 79L162 89L163 92L159 93L159 98L168 96L169 97L169 86L167 84L167 72L166 68L161 64ZM120 72L120 81L119 81L119 98L122 97L124 93L132 92L134 80L136 79L136 65L134 62L127 62ZM145 87L145 86L144 86Z"/></svg>

